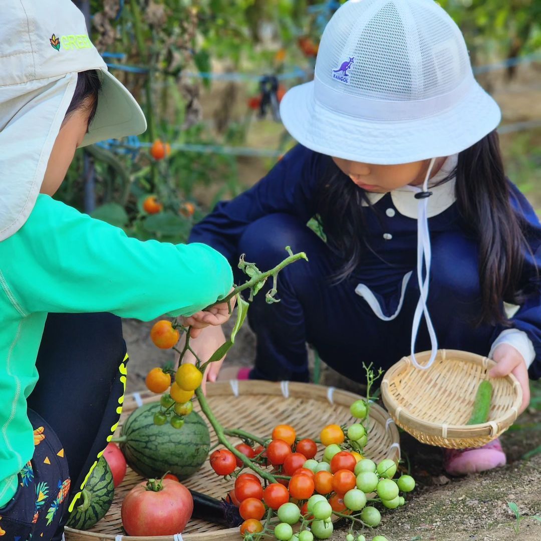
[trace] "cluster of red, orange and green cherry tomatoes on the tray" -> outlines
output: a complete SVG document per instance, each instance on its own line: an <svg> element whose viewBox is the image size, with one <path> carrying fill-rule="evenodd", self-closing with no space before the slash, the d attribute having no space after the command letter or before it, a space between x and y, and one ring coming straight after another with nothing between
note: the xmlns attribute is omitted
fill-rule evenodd
<svg viewBox="0 0 541 541"><path fill-rule="evenodd" d="M351 406L358 419L367 416L367 404L358 400ZM328 425L320 433L325 446L321 460L316 460L318 445L308 438L298 439L292 426L278 425L265 446L236 445L236 450L258 466L272 466L276 483L262 484L253 473L242 473L245 462L227 448L210 455L210 465L220 476L235 476L234 489L227 500L239 507L244 522L240 531L246 539L250 535L272 533L279 541L313 541L332 535L332 515L354 517L367 526L377 526L380 511L367 505L368 495L374 492L378 502L394 509L404 505L399 492L413 490L415 481L404 475L397 481L393 460L379 464L364 458L362 450L368 441L364 425L352 424L343 430L339 425ZM262 523L265 516L278 517L279 523ZM300 531L292 526L300 523ZM348 536L349 539L349 536ZM354 539L351 534L351 539ZM365 541L360 535L357 539ZM382 536L375 541L385 541Z"/></svg>

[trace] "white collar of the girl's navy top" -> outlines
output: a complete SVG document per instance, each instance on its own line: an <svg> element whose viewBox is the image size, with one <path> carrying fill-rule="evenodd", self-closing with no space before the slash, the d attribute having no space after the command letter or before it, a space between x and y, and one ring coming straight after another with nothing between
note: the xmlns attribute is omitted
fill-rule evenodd
<svg viewBox="0 0 541 541"><path fill-rule="evenodd" d="M454 177L451 180L440 184L439 186L434 186L434 184L437 184L441 180L445 179L445 177L457 166L457 163L458 154L448 156L438 173L436 173L436 175L430 179L428 186L430 187L432 195L428 197L427 215L429 218L441 214L456 201L456 195L454 193L456 179ZM408 218L417 219L419 200L415 199L414 192L407 188L398 188L387 193L391 194L393 204L400 214L407 216ZM377 203L385 195L386 194L367 192L368 200L370 200L372 204ZM366 207L368 206L368 203L363 201L362 206Z"/></svg>

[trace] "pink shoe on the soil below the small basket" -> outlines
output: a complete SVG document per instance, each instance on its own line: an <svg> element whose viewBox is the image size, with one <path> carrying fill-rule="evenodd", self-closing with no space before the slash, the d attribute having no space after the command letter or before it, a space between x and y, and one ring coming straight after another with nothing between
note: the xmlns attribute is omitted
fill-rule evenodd
<svg viewBox="0 0 541 541"><path fill-rule="evenodd" d="M483 447L467 449L445 449L444 468L453 476L492 470L506 463L505 453L498 438Z"/></svg>

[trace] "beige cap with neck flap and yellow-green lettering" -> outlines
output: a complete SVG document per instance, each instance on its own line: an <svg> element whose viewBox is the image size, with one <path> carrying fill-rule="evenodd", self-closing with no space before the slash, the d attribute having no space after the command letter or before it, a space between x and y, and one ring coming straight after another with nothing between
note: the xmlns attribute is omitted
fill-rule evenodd
<svg viewBox="0 0 541 541"><path fill-rule="evenodd" d="M27 220L74 95L96 69L102 91L83 146L146 130L143 111L107 71L70 0L11 0L0 17L0 241Z"/></svg>

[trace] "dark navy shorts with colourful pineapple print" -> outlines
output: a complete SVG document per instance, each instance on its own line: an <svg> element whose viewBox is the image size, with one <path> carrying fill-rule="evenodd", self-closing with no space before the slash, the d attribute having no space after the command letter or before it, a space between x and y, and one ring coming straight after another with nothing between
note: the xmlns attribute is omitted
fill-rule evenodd
<svg viewBox="0 0 541 541"><path fill-rule="evenodd" d="M34 456L19 472L14 498L0 509L0 541L49 541L67 511L70 478L62 444L37 413L28 410L28 418Z"/></svg>

